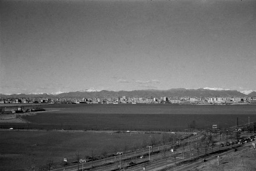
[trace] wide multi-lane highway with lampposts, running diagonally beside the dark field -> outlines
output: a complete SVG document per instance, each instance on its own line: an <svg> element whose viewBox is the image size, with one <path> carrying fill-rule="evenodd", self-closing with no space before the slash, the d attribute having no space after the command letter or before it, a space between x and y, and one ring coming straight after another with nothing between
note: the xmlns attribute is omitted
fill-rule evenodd
<svg viewBox="0 0 256 171"><path fill-rule="evenodd" d="M203 138L201 134L193 135L189 137L189 143L192 141L198 141L201 138ZM155 146L153 147L153 153L150 154L150 161L148 156L148 149L145 150L139 150L134 152L130 152L127 154L121 155L121 168L122 170L127 171L156 171L156 170L162 170L165 168L168 168L168 170L175 170L177 169L177 164L181 163L186 160L197 160L197 157L203 157L205 155L205 149L204 147L200 148L194 148L192 151L188 150L187 145L188 139L185 139L181 141L180 145L176 145L173 147L172 144L168 145L161 145L161 146ZM251 144L251 142L248 142ZM248 144L247 143L247 144ZM183 145L186 147L186 151L183 153ZM237 148L239 144L230 145L230 146L224 146L220 147L219 145L213 146L212 148L207 149L207 154L216 152L221 150L222 153L228 153L228 150L230 152L233 152L233 148ZM165 150L164 150L165 149ZM175 149L173 152L171 149ZM163 152L165 151L165 152ZM212 154L215 156L217 153ZM140 158L140 156L143 155L143 158ZM175 156L175 157L174 157ZM134 162L136 164L130 163ZM195 161L194 161L195 162ZM193 162L193 163L194 163ZM199 160L201 162L201 160ZM176 163L176 165L175 165ZM189 166L187 166L189 167ZM192 167L192 166L191 166ZM119 155L115 157L108 157L105 159L105 161L102 160L95 160L93 161L93 167L91 167L91 162L84 163L84 170L87 171L114 171L118 170L119 168ZM82 169L82 165L79 164L79 169ZM64 168L55 169L54 171L63 171ZM77 165L68 166L65 168L65 171L76 171Z"/></svg>

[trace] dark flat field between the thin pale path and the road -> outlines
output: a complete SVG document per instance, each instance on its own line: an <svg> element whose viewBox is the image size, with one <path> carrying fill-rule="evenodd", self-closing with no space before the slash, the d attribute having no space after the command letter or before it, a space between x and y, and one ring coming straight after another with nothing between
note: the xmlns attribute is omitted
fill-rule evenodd
<svg viewBox="0 0 256 171"><path fill-rule="evenodd" d="M114 154L134 148L146 148L154 137L156 143L161 134L88 133L55 131L0 131L0 170L26 171L32 165L45 167L51 155L54 166L61 164L64 157L75 160L81 157L101 158L103 152ZM18 169L19 168L19 169Z"/></svg>

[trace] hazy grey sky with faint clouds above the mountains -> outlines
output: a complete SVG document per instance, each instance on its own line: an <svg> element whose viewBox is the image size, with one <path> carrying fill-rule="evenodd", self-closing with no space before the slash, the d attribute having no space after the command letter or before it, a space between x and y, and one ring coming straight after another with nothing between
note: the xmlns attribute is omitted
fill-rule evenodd
<svg viewBox="0 0 256 171"><path fill-rule="evenodd" d="M1 0L0 93L256 90L255 0Z"/></svg>

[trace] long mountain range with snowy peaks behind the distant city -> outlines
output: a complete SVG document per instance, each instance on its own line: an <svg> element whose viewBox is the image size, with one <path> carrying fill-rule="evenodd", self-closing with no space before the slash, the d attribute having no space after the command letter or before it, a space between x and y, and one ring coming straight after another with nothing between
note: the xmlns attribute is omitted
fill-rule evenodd
<svg viewBox="0 0 256 171"><path fill-rule="evenodd" d="M243 94L236 90L229 89L186 89L186 88L172 88L169 90L133 90L133 91L96 91L87 89L83 91L64 92L60 94L0 94L0 98L83 98L83 97L253 97L256 96L256 91L250 94Z"/></svg>

